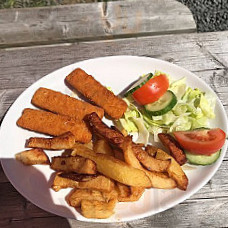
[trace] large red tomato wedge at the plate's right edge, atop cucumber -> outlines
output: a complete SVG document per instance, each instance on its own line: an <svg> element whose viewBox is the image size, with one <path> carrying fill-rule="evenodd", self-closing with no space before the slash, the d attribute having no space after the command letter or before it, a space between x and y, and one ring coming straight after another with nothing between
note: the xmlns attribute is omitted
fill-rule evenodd
<svg viewBox="0 0 228 228"><path fill-rule="evenodd" d="M226 133L220 128L209 130L176 131L176 140L183 149L193 154L211 155L222 148Z"/></svg>

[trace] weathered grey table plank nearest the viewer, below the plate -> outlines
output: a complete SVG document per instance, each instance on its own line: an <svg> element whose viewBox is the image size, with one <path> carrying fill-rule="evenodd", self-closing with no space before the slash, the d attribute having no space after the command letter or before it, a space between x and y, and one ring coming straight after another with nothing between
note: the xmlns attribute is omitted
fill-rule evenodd
<svg viewBox="0 0 228 228"><path fill-rule="evenodd" d="M11 220L10 227L73 227L73 228L100 228L100 227L226 227L226 207L228 199L196 200L187 204L179 204L173 209L156 214L150 219L140 219L127 223L84 223L69 220L68 223L60 217L30 218L27 220ZM221 213L221 211L223 213ZM197 212L197 213L195 213ZM219 218L219 219L218 219ZM9 224L9 223L8 223ZM64 225L63 225L64 224ZM7 225L7 223L5 223Z"/></svg>

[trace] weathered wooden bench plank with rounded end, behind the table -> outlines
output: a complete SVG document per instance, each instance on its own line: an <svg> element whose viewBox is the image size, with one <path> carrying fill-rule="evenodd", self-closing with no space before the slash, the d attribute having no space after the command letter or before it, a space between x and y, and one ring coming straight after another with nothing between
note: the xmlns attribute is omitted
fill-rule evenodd
<svg viewBox="0 0 228 228"><path fill-rule="evenodd" d="M194 31L191 12L174 0L128 0L0 13L0 46Z"/></svg>

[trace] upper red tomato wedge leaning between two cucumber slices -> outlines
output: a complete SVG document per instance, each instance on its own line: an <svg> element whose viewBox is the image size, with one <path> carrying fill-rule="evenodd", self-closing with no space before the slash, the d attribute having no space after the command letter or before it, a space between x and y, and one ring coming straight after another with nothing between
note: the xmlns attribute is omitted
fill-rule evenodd
<svg viewBox="0 0 228 228"><path fill-rule="evenodd" d="M161 74L151 78L145 85L137 89L133 98L140 105L146 105L157 101L169 88L169 80L166 75Z"/></svg>

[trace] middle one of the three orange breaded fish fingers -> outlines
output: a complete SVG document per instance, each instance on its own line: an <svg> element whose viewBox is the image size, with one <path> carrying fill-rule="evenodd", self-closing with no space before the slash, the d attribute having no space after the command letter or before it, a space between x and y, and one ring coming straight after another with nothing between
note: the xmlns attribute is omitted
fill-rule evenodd
<svg viewBox="0 0 228 228"><path fill-rule="evenodd" d="M39 88L32 98L32 104L48 111L82 120L87 114L96 112L102 119L104 110L85 101L51 89Z"/></svg>

